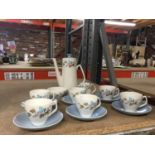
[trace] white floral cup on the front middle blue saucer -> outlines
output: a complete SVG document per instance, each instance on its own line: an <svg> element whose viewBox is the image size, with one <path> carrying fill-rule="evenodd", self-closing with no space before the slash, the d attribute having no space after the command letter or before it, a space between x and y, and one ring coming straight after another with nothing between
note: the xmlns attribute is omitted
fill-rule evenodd
<svg viewBox="0 0 155 155"><path fill-rule="evenodd" d="M96 95L80 94L75 96L75 104L82 117L90 118L94 110L101 106L101 100Z"/></svg>

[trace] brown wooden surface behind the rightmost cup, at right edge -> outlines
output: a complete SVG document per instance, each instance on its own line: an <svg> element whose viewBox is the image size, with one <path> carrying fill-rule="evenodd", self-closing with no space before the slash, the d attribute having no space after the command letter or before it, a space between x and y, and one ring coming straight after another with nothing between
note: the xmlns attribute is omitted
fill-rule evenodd
<svg viewBox="0 0 155 155"><path fill-rule="evenodd" d="M117 78L121 88L135 90L155 98L155 78Z"/></svg>

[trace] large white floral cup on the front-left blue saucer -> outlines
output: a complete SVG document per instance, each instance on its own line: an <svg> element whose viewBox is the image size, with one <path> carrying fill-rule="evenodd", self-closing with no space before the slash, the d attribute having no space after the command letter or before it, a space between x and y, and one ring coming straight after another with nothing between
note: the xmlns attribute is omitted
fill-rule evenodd
<svg viewBox="0 0 155 155"><path fill-rule="evenodd" d="M28 117L33 125L41 126L43 125L48 117L54 114L57 107L57 100L50 99L29 99L22 102L22 107L24 107Z"/></svg>

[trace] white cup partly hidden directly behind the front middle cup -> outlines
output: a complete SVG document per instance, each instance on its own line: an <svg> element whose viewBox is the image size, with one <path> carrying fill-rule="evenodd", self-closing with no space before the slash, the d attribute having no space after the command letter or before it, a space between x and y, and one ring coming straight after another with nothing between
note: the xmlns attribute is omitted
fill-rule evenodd
<svg viewBox="0 0 155 155"><path fill-rule="evenodd" d="M83 87L73 87L68 90L69 96L72 100L72 103L75 103L75 96L79 94L85 94L86 93L86 88Z"/></svg>

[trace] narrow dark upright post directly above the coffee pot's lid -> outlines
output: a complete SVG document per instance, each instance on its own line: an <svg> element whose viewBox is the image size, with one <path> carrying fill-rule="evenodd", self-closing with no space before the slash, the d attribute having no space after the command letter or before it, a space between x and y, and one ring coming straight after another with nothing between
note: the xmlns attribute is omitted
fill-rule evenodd
<svg viewBox="0 0 155 155"><path fill-rule="evenodd" d="M66 19L66 30L65 30L65 56L71 54L71 35L69 32L72 30L72 20Z"/></svg>

